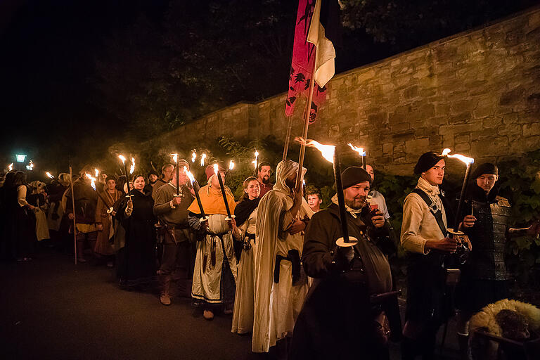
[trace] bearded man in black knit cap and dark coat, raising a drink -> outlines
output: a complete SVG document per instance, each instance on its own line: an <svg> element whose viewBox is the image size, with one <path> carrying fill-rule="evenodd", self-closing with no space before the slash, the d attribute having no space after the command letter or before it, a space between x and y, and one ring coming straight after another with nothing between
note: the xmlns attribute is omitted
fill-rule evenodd
<svg viewBox="0 0 540 360"><path fill-rule="evenodd" d="M390 295L390 264L382 250L386 247L380 246L391 240L383 213L368 207L371 176L361 167L348 167L341 179L348 233L358 242L336 245L343 237L337 194L309 221L302 262L314 284L295 326L294 359L388 358L379 337L389 335L383 313L387 305L372 303L370 296L397 296Z"/></svg>

